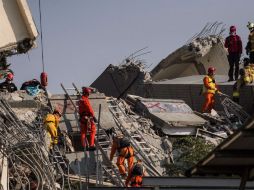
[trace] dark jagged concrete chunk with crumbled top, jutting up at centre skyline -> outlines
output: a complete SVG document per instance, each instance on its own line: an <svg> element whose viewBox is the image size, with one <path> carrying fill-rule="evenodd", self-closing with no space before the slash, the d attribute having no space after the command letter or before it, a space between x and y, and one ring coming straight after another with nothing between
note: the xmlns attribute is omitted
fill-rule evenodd
<svg viewBox="0 0 254 190"><path fill-rule="evenodd" d="M119 66L109 65L91 84L106 96L124 97L127 93L142 91L142 84L151 81L145 64L137 59L125 59Z"/></svg>

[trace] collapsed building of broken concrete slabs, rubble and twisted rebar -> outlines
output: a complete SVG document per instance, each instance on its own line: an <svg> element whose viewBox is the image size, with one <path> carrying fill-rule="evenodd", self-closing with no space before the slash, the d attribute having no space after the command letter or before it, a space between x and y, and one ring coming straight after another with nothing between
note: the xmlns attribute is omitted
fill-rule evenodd
<svg viewBox="0 0 254 190"><path fill-rule="evenodd" d="M0 10L4 33L10 34L0 40L1 64L6 64L6 57L26 53L35 47L38 34L25 0L2 0ZM36 94L26 90L2 92L0 180L3 189L125 186L115 165L117 158L114 157L113 162L109 160L114 133L122 133L130 139L135 159L143 160L149 177L181 176L179 171L172 172L172 166L189 166L181 160L186 154L192 154L186 149L196 145L200 148L208 142L214 148L240 128L250 117L247 112L252 110L249 104L240 102L247 108L245 112L240 105L224 97L216 107L223 112L220 116L198 112L202 75L209 66L217 67L221 75L228 70L221 26L217 22L206 25L150 73L133 54L119 66L109 65L91 85L99 91L89 97L98 116L97 150L94 152L84 150L80 143L77 106L81 94L75 84L71 89L61 85L63 94L50 95L45 88ZM231 84L224 85L224 80L223 76L219 77L222 91L230 94ZM247 97L249 88L245 88ZM50 149L43 118L54 107L63 115L58 146ZM197 137L202 137L202 141L195 141ZM188 144L193 141L197 142L195 146ZM204 151L190 149L201 152L196 162L208 153L205 148Z"/></svg>

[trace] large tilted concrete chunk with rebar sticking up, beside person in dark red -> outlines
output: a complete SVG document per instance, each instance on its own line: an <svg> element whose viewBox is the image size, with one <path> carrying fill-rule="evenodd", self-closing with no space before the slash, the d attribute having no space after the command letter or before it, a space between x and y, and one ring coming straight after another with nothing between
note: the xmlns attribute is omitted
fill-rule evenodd
<svg viewBox="0 0 254 190"><path fill-rule="evenodd" d="M152 69L153 81L191 75L205 75L208 67L217 68L218 75L228 71L227 51L224 49L222 23L207 24L187 44L169 54Z"/></svg>

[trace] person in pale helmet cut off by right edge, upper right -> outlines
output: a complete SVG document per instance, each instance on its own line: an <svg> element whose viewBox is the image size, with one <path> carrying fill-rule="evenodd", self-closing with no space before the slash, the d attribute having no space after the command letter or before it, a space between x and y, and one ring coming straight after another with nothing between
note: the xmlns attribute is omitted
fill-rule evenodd
<svg viewBox="0 0 254 190"><path fill-rule="evenodd" d="M248 43L245 49L246 54L249 55L250 62L254 63L254 23L248 22L247 27L250 30L250 33L248 36Z"/></svg>

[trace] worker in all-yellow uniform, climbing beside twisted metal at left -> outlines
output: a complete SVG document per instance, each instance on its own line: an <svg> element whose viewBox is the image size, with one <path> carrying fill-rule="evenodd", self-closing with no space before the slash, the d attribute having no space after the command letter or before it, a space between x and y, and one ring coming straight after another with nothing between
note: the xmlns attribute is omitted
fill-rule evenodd
<svg viewBox="0 0 254 190"><path fill-rule="evenodd" d="M58 127L62 114L59 109L55 108L53 113L48 113L44 118L44 125L50 136L50 149L58 144Z"/></svg>

